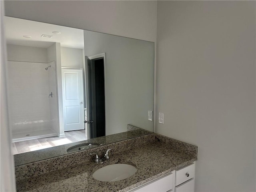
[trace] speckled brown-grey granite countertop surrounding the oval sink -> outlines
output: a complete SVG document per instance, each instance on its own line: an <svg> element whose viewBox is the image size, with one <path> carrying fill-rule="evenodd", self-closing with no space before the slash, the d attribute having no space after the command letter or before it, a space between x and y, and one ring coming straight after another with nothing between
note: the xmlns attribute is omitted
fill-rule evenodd
<svg viewBox="0 0 256 192"><path fill-rule="evenodd" d="M146 144L139 140L152 142ZM102 148L100 150L104 152L103 147L94 150ZM110 151L110 160L103 164L95 164L90 159L80 164L17 180L16 189L29 192L125 192L192 163L197 160L198 150L196 146L159 134L117 142L112 144L112 147L114 149ZM82 155L83 152L79 154ZM62 163L65 160L68 159L64 158ZM132 164L138 170L129 178L116 182L100 182L92 177L95 170L116 163Z"/></svg>

